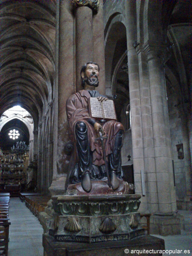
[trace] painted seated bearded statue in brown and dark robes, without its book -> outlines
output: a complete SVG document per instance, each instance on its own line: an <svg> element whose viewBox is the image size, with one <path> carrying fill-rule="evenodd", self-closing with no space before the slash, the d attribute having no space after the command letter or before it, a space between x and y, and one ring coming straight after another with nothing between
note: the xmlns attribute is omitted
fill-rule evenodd
<svg viewBox="0 0 192 256"><path fill-rule="evenodd" d="M98 64L94 62L82 66L80 76L84 89L71 95L66 102L69 135L75 145L69 182L81 182L86 192L91 191L91 180L106 180L106 177L108 185L116 190L123 176L123 125L115 120L96 120L89 114L90 97L96 97L101 102L108 100L95 90L99 84L99 71ZM103 145L98 143L97 138L104 138Z"/></svg>

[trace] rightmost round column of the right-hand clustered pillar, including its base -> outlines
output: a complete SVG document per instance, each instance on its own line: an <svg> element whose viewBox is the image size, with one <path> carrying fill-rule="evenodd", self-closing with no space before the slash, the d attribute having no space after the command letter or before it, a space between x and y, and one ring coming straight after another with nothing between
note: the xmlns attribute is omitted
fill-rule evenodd
<svg viewBox="0 0 192 256"><path fill-rule="evenodd" d="M155 202L156 200L158 202L158 208L153 209L156 212L153 211L151 217L151 233L160 235L181 234L180 220L176 215L164 59L162 58L165 48L163 46L150 46L148 42L143 48L147 57L151 95L151 129L154 145L154 166L152 166L154 174L151 179L156 180L156 182L153 181L155 184L153 189L155 193L157 192ZM149 154L153 156L152 151ZM152 193L152 190L149 192Z"/></svg>

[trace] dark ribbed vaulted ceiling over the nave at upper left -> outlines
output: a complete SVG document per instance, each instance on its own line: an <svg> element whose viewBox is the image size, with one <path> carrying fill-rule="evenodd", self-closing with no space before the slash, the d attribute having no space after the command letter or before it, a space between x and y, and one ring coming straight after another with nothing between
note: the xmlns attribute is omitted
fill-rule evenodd
<svg viewBox="0 0 192 256"><path fill-rule="evenodd" d="M56 1L2 0L0 115L20 105L38 122L52 99Z"/></svg>

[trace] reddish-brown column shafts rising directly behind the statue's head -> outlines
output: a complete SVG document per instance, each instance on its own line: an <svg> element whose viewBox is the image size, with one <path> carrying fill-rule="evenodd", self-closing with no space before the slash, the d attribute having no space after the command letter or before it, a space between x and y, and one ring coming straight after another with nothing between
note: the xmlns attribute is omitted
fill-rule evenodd
<svg viewBox="0 0 192 256"><path fill-rule="evenodd" d="M76 2L76 89L81 87L80 69L86 62L100 65L98 91L105 94L103 0ZM79 6L80 5L80 6ZM84 6L83 6L84 5Z"/></svg>

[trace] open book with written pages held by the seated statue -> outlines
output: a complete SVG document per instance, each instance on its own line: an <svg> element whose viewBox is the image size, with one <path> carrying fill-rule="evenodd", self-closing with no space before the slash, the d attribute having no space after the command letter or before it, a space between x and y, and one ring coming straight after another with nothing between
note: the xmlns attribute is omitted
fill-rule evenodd
<svg viewBox="0 0 192 256"><path fill-rule="evenodd" d="M115 106L113 100L98 101L96 97L90 97L89 114L90 117L98 119L116 120Z"/></svg>

